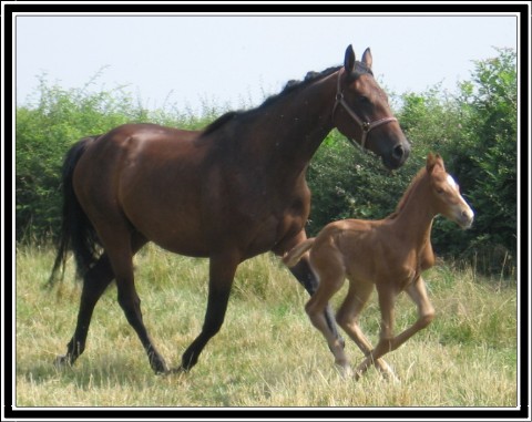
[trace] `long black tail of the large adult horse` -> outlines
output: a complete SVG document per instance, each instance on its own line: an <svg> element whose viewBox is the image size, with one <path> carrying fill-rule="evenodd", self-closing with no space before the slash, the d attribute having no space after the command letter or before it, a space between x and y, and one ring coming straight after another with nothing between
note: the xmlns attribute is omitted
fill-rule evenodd
<svg viewBox="0 0 532 422"><path fill-rule="evenodd" d="M61 230L58 241L58 255L48 281L49 285L53 285L60 267L62 267L61 272L62 276L64 276L64 267L69 250L72 250L74 254L76 275L81 278L98 260L96 249L100 244L98 235L92 223L81 207L73 186L75 166L86 147L95 138L98 138L98 136L89 136L76 142L66 153L63 163L61 174L61 191L63 195Z"/></svg>

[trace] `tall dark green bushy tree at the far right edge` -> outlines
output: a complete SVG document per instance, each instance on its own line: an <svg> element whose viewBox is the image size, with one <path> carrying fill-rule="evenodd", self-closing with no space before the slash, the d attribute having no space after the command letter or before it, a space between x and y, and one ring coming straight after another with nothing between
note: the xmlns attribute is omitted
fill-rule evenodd
<svg viewBox="0 0 532 422"><path fill-rule="evenodd" d="M464 142L457 145L460 172L470 181L478 210L471 246L499 249L514 259L518 217L518 80L513 50L475 62L472 82L461 85ZM505 258L508 256L505 255Z"/></svg>

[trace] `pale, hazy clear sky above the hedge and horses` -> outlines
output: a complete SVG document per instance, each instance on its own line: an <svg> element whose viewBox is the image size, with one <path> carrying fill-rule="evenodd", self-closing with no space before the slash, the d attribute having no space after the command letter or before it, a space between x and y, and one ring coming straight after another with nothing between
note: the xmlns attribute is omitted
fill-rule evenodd
<svg viewBox="0 0 532 422"><path fill-rule="evenodd" d="M39 76L64 89L125 90L147 109L249 109L289 80L371 49L390 93L456 92L474 61L516 49L514 16L18 16L17 104ZM100 73L99 73L100 72Z"/></svg>

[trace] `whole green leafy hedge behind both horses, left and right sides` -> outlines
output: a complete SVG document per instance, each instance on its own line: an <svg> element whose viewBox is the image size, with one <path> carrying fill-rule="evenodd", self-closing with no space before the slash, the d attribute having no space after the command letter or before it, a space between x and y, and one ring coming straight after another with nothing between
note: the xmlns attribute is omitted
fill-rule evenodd
<svg viewBox="0 0 532 422"><path fill-rule="evenodd" d="M443 218L432 231L439 255L475 260L487 271L511 270L516 254L515 52L497 50L494 59L475 62L471 81L450 95L434 86L423 93L392 97L412 153L389 173L371 154L352 148L332 131L308 169L313 206L308 231L340 218L382 218L393 212L428 152L440 153L459 181L477 217L462 231ZM90 85L64 90L45 78L33 105L17 107L17 240L48 241L58 231L63 155L83 136L126 122L152 122L184 128L206 126L226 110L206 106L203 115L175 110L147 111L123 88L92 92Z"/></svg>

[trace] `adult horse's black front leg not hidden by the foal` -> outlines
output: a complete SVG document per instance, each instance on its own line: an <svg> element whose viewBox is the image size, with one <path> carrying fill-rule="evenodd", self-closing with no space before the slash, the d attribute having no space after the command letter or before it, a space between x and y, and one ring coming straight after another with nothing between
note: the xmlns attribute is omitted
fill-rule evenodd
<svg viewBox="0 0 532 422"><path fill-rule="evenodd" d="M181 367L173 372L190 371L207 342L219 331L224 322L231 288L239 264L237 254L211 257L207 310L202 332L183 353Z"/></svg>

